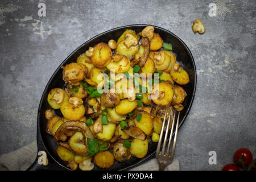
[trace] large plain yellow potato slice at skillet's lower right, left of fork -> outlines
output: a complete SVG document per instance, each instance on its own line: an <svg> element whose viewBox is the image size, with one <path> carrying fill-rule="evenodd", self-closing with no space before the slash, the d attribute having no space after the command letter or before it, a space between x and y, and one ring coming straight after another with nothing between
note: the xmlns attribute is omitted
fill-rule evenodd
<svg viewBox="0 0 256 182"><path fill-rule="evenodd" d="M147 155L148 140L133 139L131 142L130 153L136 158L144 158Z"/></svg>

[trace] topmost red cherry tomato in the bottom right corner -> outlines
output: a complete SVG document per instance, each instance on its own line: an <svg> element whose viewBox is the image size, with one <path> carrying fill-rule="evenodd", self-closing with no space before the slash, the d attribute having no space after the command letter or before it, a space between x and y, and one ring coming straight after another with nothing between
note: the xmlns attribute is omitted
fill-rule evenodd
<svg viewBox="0 0 256 182"><path fill-rule="evenodd" d="M238 166L246 167L253 160L253 154L247 148L240 148L234 154L234 161Z"/></svg>

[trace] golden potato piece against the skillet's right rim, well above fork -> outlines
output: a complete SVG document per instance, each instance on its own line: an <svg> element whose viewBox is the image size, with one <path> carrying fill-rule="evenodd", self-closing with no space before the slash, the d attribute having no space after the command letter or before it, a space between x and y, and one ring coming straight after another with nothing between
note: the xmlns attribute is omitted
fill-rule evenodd
<svg viewBox="0 0 256 182"><path fill-rule="evenodd" d="M172 76L172 78L177 84L185 85L189 83L188 73L184 71L184 69L182 69L181 67L179 67L178 70L175 70L175 65L174 65L171 69L170 75Z"/></svg>

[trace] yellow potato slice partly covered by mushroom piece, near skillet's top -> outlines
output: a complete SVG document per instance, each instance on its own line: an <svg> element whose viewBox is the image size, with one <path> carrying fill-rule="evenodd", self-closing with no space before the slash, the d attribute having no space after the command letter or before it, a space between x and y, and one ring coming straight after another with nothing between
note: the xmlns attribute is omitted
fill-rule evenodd
<svg viewBox="0 0 256 182"><path fill-rule="evenodd" d="M139 44L136 46L131 46L130 48L127 48L125 46L125 41L121 41L117 44L117 48L115 49L115 53L118 53L120 55L125 55L129 60L133 59L135 56L135 53L138 52Z"/></svg>

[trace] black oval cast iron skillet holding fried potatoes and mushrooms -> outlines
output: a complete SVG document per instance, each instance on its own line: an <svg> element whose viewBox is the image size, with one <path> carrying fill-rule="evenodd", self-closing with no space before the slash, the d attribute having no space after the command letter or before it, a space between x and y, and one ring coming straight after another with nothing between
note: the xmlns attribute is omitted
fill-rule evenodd
<svg viewBox="0 0 256 182"><path fill-rule="evenodd" d="M37 125L37 143L38 143L38 151L46 151L48 155L49 164L48 166L41 166L38 164L38 160L28 168L28 170L71 170L67 168L67 162L63 162L56 153L57 144L54 142L54 139L51 135L46 133L46 125L47 119L44 116L44 112L47 109L51 109L47 102L47 94L53 88L63 88L64 81L62 80L62 65L66 65L72 62L75 62L77 57L84 53L91 46L93 47L97 43L105 42L107 43L110 39L118 40L119 36L125 31L127 28L135 30L136 32L141 32L144 27L148 26L147 24L134 24L129 26L123 26L114 28L112 30L106 31L100 35L95 36L94 38L88 40L84 44L82 44L79 48L71 53L64 61L60 64L60 66L53 73L50 78L48 84L46 85L46 89L44 89L43 96L41 98L39 109L38 109L38 125ZM187 92L187 97L185 97L185 101L183 102L184 109L180 113L180 125L183 124L185 118L188 115L189 110L191 109L191 105L193 102L193 98L195 96L196 91L196 66L193 60L193 56L189 51L188 47L185 43L180 40L176 35L172 34L172 32L165 30L164 28L156 27L155 32L158 33L163 42L172 44L172 52L176 54L177 62L181 64L181 67L188 72L190 82L187 85L183 85L183 88ZM61 115L60 110L55 110L57 115ZM182 136L180 136L182 137ZM93 170L126 170L129 168L133 168L146 162L146 160L154 158L155 150L157 143L152 143L148 145L148 153L143 159L131 158L123 163L118 163L115 161L114 165L110 168L101 169L94 165Z"/></svg>

